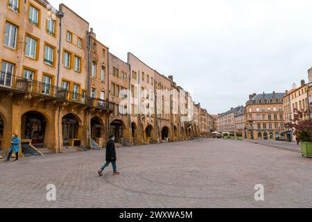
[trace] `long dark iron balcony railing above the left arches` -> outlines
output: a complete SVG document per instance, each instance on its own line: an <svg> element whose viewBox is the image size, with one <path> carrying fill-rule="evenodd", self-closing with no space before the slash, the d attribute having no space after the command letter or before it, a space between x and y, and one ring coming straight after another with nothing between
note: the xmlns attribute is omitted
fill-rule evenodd
<svg viewBox="0 0 312 222"><path fill-rule="evenodd" d="M10 73L0 72L0 88L15 89L24 93L34 94L37 96L45 96L60 101L68 101L72 103L80 103L91 107L114 111L114 103L87 97L85 94L69 92L68 89L57 87L49 83L42 83L37 80L15 76Z"/></svg>

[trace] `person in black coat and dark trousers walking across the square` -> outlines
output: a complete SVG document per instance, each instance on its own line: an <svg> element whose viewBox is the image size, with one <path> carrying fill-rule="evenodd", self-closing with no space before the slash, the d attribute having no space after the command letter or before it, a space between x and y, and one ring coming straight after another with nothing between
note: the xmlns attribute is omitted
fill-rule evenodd
<svg viewBox="0 0 312 222"><path fill-rule="evenodd" d="M112 163L112 167L113 167L113 176L119 175L120 173L117 172L117 167L116 167L116 149L115 149L115 143L114 143L115 137L114 136L110 136L110 139L108 140L107 144L106 144L106 162L103 165L103 167L101 167L101 169L98 170L98 175L99 176L103 176L103 170L108 167L108 165L110 165L110 163Z"/></svg>

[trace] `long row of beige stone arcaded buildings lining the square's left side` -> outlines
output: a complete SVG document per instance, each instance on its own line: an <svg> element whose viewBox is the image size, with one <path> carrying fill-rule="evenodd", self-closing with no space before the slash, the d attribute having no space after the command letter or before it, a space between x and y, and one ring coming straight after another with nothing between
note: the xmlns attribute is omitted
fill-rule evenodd
<svg viewBox="0 0 312 222"><path fill-rule="evenodd" d="M89 22L46 0L0 2L0 147L13 132L22 149L62 153L182 141L209 132L207 111L132 53L123 62ZM160 90L160 92L159 92ZM14 121L13 121L14 120ZM197 129L196 129L197 128Z"/></svg>

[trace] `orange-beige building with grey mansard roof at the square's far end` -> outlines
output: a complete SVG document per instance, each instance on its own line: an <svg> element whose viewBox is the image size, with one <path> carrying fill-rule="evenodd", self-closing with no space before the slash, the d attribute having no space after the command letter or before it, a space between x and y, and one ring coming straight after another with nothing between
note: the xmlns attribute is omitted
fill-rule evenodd
<svg viewBox="0 0 312 222"><path fill-rule="evenodd" d="M285 93L251 94L246 103L248 139L285 140Z"/></svg>

